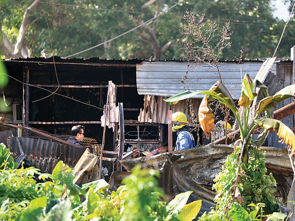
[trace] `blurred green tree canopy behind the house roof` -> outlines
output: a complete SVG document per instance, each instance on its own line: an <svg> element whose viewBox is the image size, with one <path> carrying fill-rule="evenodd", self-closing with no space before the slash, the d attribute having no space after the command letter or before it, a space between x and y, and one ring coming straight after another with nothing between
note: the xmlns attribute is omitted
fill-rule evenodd
<svg viewBox="0 0 295 221"><path fill-rule="evenodd" d="M176 0L1 0L1 55L6 57L67 56L105 42L150 18L158 18L109 43L73 57L108 59L182 59L181 24L185 11L222 27L231 21L229 41L221 59L272 56L284 22L272 15L271 0L187 0L165 12ZM165 12L165 13L163 13ZM289 22L277 56L290 56L295 20ZM288 36L288 37L287 37ZM291 38L291 39L290 39ZM51 49L51 44L53 51Z"/></svg>

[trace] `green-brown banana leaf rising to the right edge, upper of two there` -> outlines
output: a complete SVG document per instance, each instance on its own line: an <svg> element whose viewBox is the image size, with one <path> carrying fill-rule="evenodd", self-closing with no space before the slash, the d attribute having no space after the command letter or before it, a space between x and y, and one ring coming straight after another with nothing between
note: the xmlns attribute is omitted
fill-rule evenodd
<svg viewBox="0 0 295 221"><path fill-rule="evenodd" d="M295 96L295 84L287 86L273 96L266 97L259 102L257 113L267 111L270 108L276 106L280 101L283 101L289 97Z"/></svg>

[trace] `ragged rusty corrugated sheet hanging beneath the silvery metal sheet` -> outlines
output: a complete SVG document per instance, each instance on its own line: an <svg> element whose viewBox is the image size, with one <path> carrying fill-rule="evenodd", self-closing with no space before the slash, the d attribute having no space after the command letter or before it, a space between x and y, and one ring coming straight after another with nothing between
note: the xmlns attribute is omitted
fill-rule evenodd
<svg viewBox="0 0 295 221"><path fill-rule="evenodd" d="M188 117L188 121L192 122L190 119L190 111L189 107L186 104L186 100L179 101L176 105L169 105L163 99L168 97L161 97L161 96L154 96L145 95L144 98L144 109L140 109L140 114L138 116L139 122L145 123L160 123L160 124L167 124L168 123L168 111L172 110L173 112L182 111ZM198 109L201 103L201 99L194 98L192 99L193 109L196 112L196 117L198 118ZM150 113L151 112L151 113ZM150 118L151 116L151 118Z"/></svg>

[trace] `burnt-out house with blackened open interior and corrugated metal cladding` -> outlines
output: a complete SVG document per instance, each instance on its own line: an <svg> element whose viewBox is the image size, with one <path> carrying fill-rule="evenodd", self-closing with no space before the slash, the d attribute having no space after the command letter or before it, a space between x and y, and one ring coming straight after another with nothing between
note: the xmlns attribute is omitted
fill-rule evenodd
<svg viewBox="0 0 295 221"><path fill-rule="evenodd" d="M9 83L0 93L8 107L2 107L0 116L57 135L67 135L73 125L81 124L86 127L86 137L102 143L101 117L112 81L116 85L113 93L116 105L123 104L125 143L148 151L167 146L169 110L191 114L185 101L170 106L163 99L184 89L207 90L218 80L216 70L206 65L188 67L183 61L51 57L11 59L3 63ZM254 79L262 64L260 60L220 64L220 72L229 82L234 99L240 96L240 69L243 75L248 73ZM271 71L284 86L291 84L292 61L274 63ZM200 94L192 99L196 113L202 97ZM117 151L118 122L114 125L106 127L105 150ZM194 132L195 137L197 133ZM202 137L201 132L199 135ZM201 138L201 144L204 142Z"/></svg>

